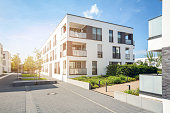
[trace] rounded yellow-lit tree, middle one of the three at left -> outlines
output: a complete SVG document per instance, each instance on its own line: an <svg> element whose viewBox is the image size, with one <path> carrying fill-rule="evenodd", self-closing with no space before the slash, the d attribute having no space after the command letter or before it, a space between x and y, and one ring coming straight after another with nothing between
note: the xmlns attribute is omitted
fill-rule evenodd
<svg viewBox="0 0 170 113"><path fill-rule="evenodd" d="M29 73L35 72L35 61L32 56L28 56L24 61L24 70L28 71Z"/></svg>

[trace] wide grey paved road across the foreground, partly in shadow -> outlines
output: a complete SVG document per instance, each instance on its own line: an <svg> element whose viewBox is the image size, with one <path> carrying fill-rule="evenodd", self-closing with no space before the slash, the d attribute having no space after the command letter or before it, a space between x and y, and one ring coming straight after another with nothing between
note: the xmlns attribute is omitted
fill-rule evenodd
<svg viewBox="0 0 170 113"><path fill-rule="evenodd" d="M0 113L151 113L65 82L13 87L16 78L0 79Z"/></svg>

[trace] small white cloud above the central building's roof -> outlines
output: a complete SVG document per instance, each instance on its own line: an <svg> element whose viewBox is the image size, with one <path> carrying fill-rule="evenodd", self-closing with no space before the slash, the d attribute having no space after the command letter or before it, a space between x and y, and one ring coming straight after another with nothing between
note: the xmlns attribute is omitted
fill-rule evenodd
<svg viewBox="0 0 170 113"><path fill-rule="evenodd" d="M90 10L84 11L83 15L87 18L93 18L94 15L99 15L101 11L99 10L99 8L97 7L96 4L91 6Z"/></svg>

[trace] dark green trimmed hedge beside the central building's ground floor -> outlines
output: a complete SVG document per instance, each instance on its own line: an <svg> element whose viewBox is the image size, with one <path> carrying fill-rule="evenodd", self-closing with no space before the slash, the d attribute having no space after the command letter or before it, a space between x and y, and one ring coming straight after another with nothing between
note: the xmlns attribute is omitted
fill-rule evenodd
<svg viewBox="0 0 170 113"><path fill-rule="evenodd" d="M125 75L129 77L135 77L139 74L151 74L157 73L157 68L153 66L125 64L125 65L108 65L106 70L107 75L119 76Z"/></svg>

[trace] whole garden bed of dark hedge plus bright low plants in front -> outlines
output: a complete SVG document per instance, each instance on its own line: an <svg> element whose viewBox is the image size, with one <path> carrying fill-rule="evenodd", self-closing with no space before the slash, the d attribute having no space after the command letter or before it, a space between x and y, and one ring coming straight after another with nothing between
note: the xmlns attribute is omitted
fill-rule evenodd
<svg viewBox="0 0 170 113"><path fill-rule="evenodd" d="M79 80L83 82L88 82L91 84L91 87L98 88L99 86L105 86L113 84L122 84L126 82L139 80L139 74L146 73L157 73L157 68L153 66L144 66L144 65L108 65L106 67L107 75L100 76L80 76L72 78L74 80ZM100 81L100 85L99 85Z"/></svg>

